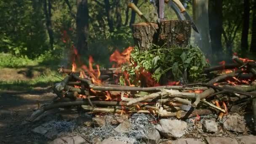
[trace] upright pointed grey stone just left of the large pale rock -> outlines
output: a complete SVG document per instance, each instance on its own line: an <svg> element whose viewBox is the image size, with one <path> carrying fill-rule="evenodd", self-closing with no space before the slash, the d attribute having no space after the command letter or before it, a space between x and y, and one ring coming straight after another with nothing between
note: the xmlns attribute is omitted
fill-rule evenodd
<svg viewBox="0 0 256 144"><path fill-rule="evenodd" d="M144 136L142 139L145 141L147 144L158 144L160 141L160 133L157 131L155 128L155 125L150 126L147 129L147 134Z"/></svg>

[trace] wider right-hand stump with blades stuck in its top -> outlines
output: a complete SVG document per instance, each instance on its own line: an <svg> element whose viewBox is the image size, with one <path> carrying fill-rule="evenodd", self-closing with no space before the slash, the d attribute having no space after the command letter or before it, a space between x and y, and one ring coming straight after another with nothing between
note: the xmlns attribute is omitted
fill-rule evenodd
<svg viewBox="0 0 256 144"><path fill-rule="evenodd" d="M191 22L181 20L161 20L157 45L170 48L172 46L186 47L191 35Z"/></svg>

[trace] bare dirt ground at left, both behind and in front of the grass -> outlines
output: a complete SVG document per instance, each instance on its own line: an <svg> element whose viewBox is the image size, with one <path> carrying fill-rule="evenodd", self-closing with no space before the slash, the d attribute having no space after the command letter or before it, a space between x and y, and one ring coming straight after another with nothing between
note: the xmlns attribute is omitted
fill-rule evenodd
<svg viewBox="0 0 256 144"><path fill-rule="evenodd" d="M43 69L37 68L2 68L0 80L2 82L32 80L43 72ZM0 91L0 144L45 144L48 139L31 131L35 128L35 124L21 125L21 123L32 114L38 102L45 103L52 98L53 93L40 88L29 91Z"/></svg>

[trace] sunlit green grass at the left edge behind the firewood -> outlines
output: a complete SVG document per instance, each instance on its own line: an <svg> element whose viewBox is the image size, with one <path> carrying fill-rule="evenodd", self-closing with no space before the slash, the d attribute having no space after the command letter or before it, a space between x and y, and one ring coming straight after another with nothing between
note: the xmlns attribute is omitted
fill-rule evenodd
<svg viewBox="0 0 256 144"><path fill-rule="evenodd" d="M59 61L59 58L50 53L41 55L34 60L28 59L26 56L18 57L0 53L0 72L2 68L11 68L15 73L17 69L22 68L32 71L32 73L40 73L37 77L27 78L27 80L1 80L0 90L33 90L35 87L48 87L58 83L61 81L59 78L63 79L63 76L57 72Z"/></svg>

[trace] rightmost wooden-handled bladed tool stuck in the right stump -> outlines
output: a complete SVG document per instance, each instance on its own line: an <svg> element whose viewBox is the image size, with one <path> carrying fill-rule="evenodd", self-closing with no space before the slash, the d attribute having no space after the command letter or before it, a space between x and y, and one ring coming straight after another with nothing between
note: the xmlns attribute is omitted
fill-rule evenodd
<svg viewBox="0 0 256 144"><path fill-rule="evenodd" d="M175 11L178 19L184 20L185 19L189 20L192 22L192 29L195 30L195 32L199 33L197 26L195 25L194 21L192 20L191 16L187 13L186 9L182 5L182 3L179 0L165 0L165 3L168 3L169 6ZM183 17L184 16L184 17Z"/></svg>

